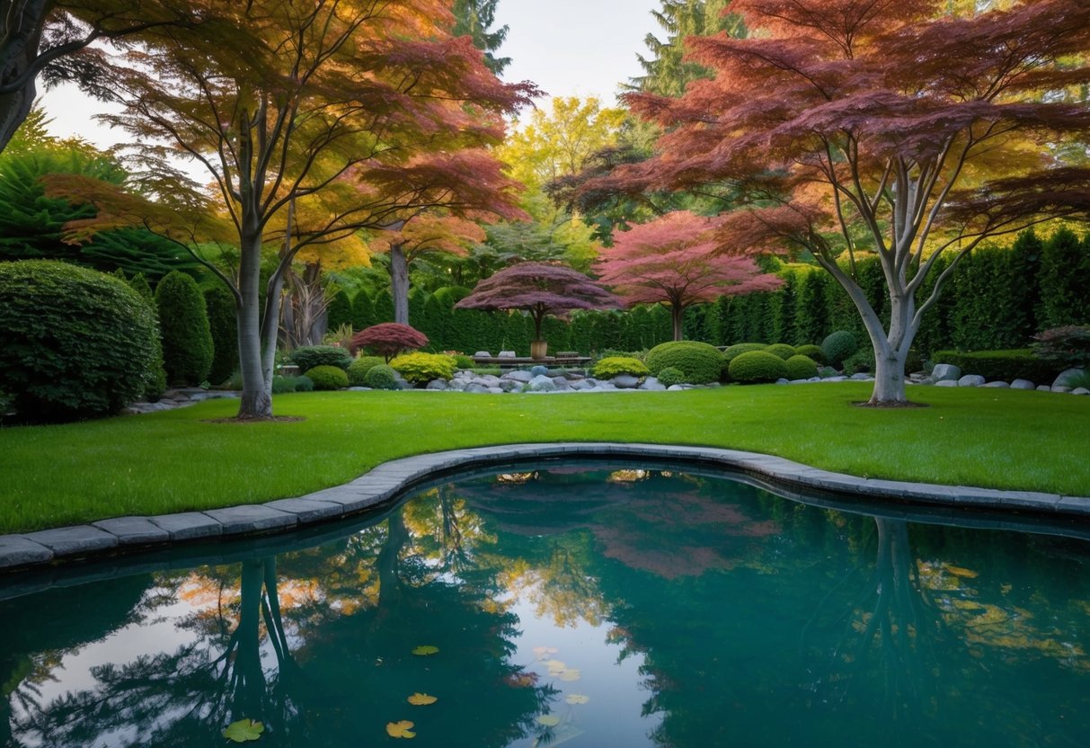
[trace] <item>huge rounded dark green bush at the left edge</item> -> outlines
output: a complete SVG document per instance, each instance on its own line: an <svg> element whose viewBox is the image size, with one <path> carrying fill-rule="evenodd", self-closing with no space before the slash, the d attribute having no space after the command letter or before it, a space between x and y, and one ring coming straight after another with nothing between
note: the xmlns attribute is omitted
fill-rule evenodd
<svg viewBox="0 0 1090 748"><path fill-rule="evenodd" d="M155 312L118 278L45 260L0 263L0 390L16 420L118 412L150 382L158 334Z"/></svg>

